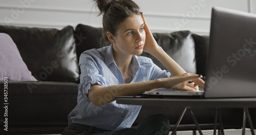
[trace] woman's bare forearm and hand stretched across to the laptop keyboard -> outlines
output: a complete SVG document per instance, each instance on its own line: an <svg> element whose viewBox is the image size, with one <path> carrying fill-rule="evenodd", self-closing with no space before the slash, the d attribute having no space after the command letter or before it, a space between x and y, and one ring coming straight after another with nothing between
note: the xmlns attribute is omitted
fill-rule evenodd
<svg viewBox="0 0 256 135"><path fill-rule="evenodd" d="M201 76L198 76L196 74L185 73L169 78L160 78L151 81L126 83L106 87L94 84L90 88L88 98L95 106L98 106L116 100L115 96L138 95L144 93L145 91L154 91L158 88L176 87L183 91L195 91L195 89L186 86L185 82L187 80L199 79L200 77Z"/></svg>

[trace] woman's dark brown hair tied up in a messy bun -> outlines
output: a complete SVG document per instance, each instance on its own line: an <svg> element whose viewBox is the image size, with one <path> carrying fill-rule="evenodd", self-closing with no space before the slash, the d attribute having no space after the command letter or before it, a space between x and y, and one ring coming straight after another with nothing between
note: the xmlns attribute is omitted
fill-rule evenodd
<svg viewBox="0 0 256 135"><path fill-rule="evenodd" d="M103 15L102 18L102 40L103 42L109 42L106 32L116 35L119 24L127 17L140 13L139 6L132 0L94 0L100 10L99 15Z"/></svg>

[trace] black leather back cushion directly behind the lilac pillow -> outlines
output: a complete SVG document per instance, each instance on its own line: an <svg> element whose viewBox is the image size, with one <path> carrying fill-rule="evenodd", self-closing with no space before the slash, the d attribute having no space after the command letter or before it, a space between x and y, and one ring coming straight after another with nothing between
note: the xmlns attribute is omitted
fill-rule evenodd
<svg viewBox="0 0 256 135"><path fill-rule="evenodd" d="M75 82L79 79L74 29L62 30L0 26L16 43L37 80Z"/></svg>

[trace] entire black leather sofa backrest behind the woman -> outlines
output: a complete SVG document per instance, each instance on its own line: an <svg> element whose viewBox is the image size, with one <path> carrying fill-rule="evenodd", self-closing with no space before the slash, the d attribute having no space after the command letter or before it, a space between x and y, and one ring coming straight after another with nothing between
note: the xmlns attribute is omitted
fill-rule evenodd
<svg viewBox="0 0 256 135"><path fill-rule="evenodd" d="M79 82L79 56L82 52L100 48L102 28L79 24L61 30L0 26L0 33L7 33L16 43L20 55L32 75L41 81ZM189 73L205 75L208 36L190 31L153 33L165 52ZM161 69L165 67L147 53Z"/></svg>

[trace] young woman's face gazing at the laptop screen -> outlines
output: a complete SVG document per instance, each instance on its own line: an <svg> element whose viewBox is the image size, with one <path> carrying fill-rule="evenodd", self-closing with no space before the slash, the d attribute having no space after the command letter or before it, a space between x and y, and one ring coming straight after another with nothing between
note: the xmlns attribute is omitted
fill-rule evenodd
<svg viewBox="0 0 256 135"><path fill-rule="evenodd" d="M144 22L140 14L126 18L118 26L113 37L113 48L117 53L140 55L145 43Z"/></svg>

